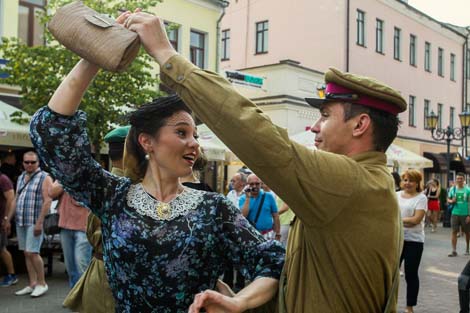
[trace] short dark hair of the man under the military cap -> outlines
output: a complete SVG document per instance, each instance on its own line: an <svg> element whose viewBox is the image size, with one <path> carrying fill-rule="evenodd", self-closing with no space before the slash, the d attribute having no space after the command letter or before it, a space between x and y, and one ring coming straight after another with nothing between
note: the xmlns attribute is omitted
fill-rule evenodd
<svg viewBox="0 0 470 313"><path fill-rule="evenodd" d="M398 126L400 125L398 116L349 102L344 102L343 107L345 122L363 113L370 116L373 127L374 149L385 152L397 136Z"/></svg>

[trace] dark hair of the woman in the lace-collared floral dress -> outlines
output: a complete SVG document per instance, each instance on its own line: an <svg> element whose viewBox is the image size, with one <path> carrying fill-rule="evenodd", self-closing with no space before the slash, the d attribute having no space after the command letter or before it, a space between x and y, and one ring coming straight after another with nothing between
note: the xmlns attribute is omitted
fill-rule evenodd
<svg viewBox="0 0 470 313"><path fill-rule="evenodd" d="M145 151L139 143L139 135L156 135L160 128L166 125L167 119L180 111L192 113L179 96L171 95L146 103L129 115L131 128L126 139L125 163L127 167L135 167L127 170L134 172L139 179L145 175L148 165Z"/></svg>

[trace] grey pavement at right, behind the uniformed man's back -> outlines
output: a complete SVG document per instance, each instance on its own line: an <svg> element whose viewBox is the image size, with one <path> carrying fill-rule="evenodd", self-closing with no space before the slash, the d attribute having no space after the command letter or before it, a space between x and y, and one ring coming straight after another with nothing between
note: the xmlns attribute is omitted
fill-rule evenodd
<svg viewBox="0 0 470 313"><path fill-rule="evenodd" d="M415 313L457 313L459 298L457 277L464 268L469 256L465 256L465 239L458 238L455 258L451 252L450 228L439 227L436 233L426 228L423 258L419 268L420 289ZM406 282L400 279L398 312L406 306Z"/></svg>

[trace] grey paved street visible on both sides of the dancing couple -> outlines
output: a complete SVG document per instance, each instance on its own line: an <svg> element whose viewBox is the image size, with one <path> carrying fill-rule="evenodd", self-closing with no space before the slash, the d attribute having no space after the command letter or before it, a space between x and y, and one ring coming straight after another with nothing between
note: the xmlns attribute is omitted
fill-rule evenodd
<svg viewBox="0 0 470 313"><path fill-rule="evenodd" d="M459 238L456 258L449 258L450 229L439 228L437 233L426 229L426 243L420 266L421 288L416 313L452 313L458 312L457 276L470 257L463 256L465 244ZM14 291L25 286L26 275L21 275L20 282L13 287L0 288L0 313L56 313L70 312L62 308L62 301L68 292L64 265L54 261L54 273L48 277L49 292L38 299L29 296L17 297ZM399 312L405 308L405 280L402 277L399 291Z"/></svg>

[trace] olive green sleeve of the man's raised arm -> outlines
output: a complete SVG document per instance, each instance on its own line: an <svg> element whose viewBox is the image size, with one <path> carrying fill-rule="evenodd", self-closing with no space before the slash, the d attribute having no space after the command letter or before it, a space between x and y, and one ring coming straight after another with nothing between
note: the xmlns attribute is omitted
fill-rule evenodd
<svg viewBox="0 0 470 313"><path fill-rule="evenodd" d="M328 223L346 206L356 175L352 159L292 142L227 80L179 55L162 66L161 78L306 225Z"/></svg>

